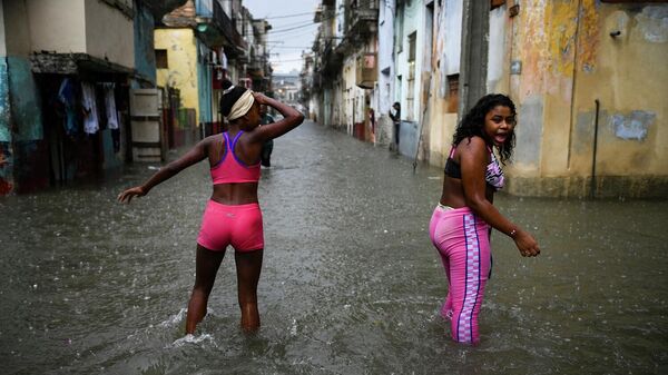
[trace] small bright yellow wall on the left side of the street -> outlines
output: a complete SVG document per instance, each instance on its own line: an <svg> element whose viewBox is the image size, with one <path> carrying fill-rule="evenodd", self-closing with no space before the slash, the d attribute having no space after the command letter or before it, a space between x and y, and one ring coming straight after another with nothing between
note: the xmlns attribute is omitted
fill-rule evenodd
<svg viewBox="0 0 668 375"><path fill-rule="evenodd" d="M157 70L157 83L180 90L184 108L194 108L199 118L197 95L197 45L191 29L156 29L155 48L167 50L168 69Z"/></svg>

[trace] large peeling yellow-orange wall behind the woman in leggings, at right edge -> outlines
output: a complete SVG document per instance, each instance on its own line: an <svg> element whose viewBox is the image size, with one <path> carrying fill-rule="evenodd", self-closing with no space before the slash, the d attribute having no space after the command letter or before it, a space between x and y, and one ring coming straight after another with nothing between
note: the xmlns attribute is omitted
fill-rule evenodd
<svg viewBox="0 0 668 375"><path fill-rule="evenodd" d="M668 182L667 4L532 0L505 30L520 75L497 83L518 105L511 193L651 196ZM618 37L610 32L620 31ZM505 90L504 90L505 89ZM517 184L512 184L517 181Z"/></svg>

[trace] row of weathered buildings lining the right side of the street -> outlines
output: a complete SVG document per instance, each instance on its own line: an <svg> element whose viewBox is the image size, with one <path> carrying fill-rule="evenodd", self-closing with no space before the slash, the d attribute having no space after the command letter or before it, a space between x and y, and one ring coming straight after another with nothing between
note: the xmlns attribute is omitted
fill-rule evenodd
<svg viewBox="0 0 668 375"><path fill-rule="evenodd" d="M374 141L391 144L397 101L400 152L442 166L461 114L503 92L519 109L511 194L667 197L667 20L665 1L381 0ZM314 45L314 92L318 121L350 129L337 85L355 51L335 27Z"/></svg>

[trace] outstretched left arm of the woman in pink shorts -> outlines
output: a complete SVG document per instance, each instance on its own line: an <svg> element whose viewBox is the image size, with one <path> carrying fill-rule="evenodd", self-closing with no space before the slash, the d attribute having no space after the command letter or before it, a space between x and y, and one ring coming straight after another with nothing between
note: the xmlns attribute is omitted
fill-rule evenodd
<svg viewBox="0 0 668 375"><path fill-rule="evenodd" d="M209 138L203 139L184 156L160 168L160 170L153 175L143 185L124 190L118 195L118 201L129 204L134 197L143 197L147 195L148 191L154 188L154 186L174 177L176 174L188 168L189 166L204 160L207 157L206 150Z"/></svg>

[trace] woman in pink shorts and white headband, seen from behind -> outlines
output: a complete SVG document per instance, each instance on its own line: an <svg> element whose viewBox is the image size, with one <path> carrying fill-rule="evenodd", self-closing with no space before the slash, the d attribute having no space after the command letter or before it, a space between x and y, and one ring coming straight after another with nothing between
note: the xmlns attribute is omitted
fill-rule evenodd
<svg viewBox="0 0 668 375"><path fill-rule="evenodd" d="M242 328L259 327L257 283L264 251L263 219L257 200L262 146L299 126L304 116L292 107L230 81L223 82L220 110L229 130L199 141L179 159L169 162L146 182L122 191L120 203L147 195L156 185L204 159L210 165L213 194L197 237L195 286L188 303L186 334L194 334L204 319L209 294L225 250L235 249ZM263 105L278 110L284 119L259 127Z"/></svg>

